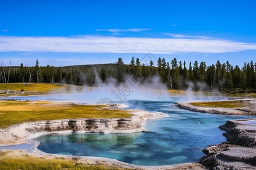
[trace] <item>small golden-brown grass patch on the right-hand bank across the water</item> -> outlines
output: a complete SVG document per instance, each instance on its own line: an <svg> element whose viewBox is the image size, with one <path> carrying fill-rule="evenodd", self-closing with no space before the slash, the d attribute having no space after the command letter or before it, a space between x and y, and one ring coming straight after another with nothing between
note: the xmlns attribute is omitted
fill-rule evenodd
<svg viewBox="0 0 256 170"><path fill-rule="evenodd" d="M242 108L242 107L252 106L252 104L248 100L203 101L203 102L193 102L191 104L199 107L221 107L221 108Z"/></svg>

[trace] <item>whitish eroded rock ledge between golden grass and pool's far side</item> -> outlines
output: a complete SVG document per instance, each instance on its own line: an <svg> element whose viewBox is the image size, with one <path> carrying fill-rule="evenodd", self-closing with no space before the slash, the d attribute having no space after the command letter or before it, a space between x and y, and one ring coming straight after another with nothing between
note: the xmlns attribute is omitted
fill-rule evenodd
<svg viewBox="0 0 256 170"><path fill-rule="evenodd" d="M133 133L145 131L147 119L168 117L160 112L133 110L129 118L82 118L53 121L25 122L0 129L0 145L26 143L31 138L46 134L69 133Z"/></svg>

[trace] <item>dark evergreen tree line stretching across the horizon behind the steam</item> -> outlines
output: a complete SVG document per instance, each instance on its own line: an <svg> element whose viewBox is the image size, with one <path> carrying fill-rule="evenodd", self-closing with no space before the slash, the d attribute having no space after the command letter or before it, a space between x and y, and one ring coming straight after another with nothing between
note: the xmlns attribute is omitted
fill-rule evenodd
<svg viewBox="0 0 256 170"><path fill-rule="evenodd" d="M0 83L11 82L38 82L38 83L67 83L80 86L97 86L97 78L106 82L108 78L115 78L117 82L125 82L126 76L134 79L147 79L160 76L162 83L170 89L182 90L194 84L195 90L204 84L209 88L218 90L232 90L234 88L255 89L256 87L256 63L244 63L240 69L238 65L232 66L229 61L215 65L206 65L205 62L195 61L193 64L177 62L174 58L168 62L165 58L158 61L150 61L148 65L141 63L139 58L132 57L129 65L118 58L115 63L98 65L76 66L39 66L38 60L33 67L2 66L0 69Z"/></svg>

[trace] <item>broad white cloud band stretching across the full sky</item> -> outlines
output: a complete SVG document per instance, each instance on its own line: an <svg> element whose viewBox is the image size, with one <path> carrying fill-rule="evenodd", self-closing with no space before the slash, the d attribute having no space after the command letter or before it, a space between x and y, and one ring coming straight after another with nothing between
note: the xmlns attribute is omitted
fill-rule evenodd
<svg viewBox="0 0 256 170"><path fill-rule="evenodd" d="M19 37L0 36L0 52L69 53L225 53L256 50L256 44L214 39L140 37Z"/></svg>

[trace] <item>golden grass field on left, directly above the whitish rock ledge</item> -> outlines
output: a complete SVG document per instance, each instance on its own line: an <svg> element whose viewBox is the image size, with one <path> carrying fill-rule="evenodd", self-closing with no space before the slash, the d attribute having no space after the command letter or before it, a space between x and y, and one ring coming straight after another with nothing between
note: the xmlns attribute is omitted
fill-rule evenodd
<svg viewBox="0 0 256 170"><path fill-rule="evenodd" d="M77 105L52 101L0 101L0 128L33 121L68 118L127 118L129 111L105 109L105 105Z"/></svg>

